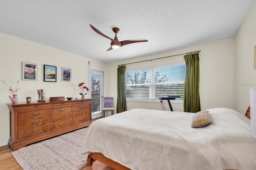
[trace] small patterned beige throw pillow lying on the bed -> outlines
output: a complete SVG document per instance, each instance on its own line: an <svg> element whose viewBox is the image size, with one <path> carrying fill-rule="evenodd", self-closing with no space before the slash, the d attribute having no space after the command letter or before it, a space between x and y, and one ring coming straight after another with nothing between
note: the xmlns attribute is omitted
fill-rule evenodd
<svg viewBox="0 0 256 170"><path fill-rule="evenodd" d="M193 115L191 127L205 127L212 123L208 110L198 111Z"/></svg>

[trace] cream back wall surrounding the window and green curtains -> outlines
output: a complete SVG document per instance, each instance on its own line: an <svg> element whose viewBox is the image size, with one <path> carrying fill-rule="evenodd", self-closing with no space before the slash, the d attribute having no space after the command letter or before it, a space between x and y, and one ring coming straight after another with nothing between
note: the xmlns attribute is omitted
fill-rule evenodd
<svg viewBox="0 0 256 170"><path fill-rule="evenodd" d="M128 59L109 64L108 74L109 84L112 87L108 93L117 98L117 67L118 64L132 63L136 61L144 61L148 59L156 59L190 51L201 50L200 58L200 100L201 109L210 109L214 107L233 108L233 82L234 82L234 39L223 39L211 43L194 45L192 47L185 47L164 53L148 55L144 57ZM181 63L184 62L183 55L169 57L165 59L147 61L136 64L126 65L126 69L144 68L148 66L158 66L164 64ZM159 103L148 102L127 102L127 109L133 108L147 108L162 110ZM183 104L172 104L174 111L183 111ZM169 109L166 104L166 110Z"/></svg>

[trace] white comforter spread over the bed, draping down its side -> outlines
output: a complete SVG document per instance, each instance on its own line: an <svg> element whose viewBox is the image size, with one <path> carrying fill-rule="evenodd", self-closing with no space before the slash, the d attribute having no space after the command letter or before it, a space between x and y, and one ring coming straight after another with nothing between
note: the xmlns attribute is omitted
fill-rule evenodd
<svg viewBox="0 0 256 170"><path fill-rule="evenodd" d="M250 119L208 109L213 123L191 128L194 113L132 109L94 121L81 153L101 152L134 170L256 169Z"/></svg>

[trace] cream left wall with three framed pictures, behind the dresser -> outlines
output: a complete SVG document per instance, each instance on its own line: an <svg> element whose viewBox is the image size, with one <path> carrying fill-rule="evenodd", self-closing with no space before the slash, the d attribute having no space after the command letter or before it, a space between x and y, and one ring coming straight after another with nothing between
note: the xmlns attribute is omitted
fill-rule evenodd
<svg viewBox="0 0 256 170"><path fill-rule="evenodd" d="M22 61L37 64L37 81L22 80ZM106 63L0 33L0 146L6 145L10 137L9 109L6 103L12 103L8 97L12 93L2 80L12 87L16 86L17 80L20 81L17 93L19 102L26 102L26 97L31 97L32 102L37 101L37 89L46 89L46 100L54 96L81 98L76 86L81 82L88 85L88 61L92 68L107 73ZM57 82L43 81L44 64L57 67ZM62 67L72 68L72 82L62 82Z"/></svg>

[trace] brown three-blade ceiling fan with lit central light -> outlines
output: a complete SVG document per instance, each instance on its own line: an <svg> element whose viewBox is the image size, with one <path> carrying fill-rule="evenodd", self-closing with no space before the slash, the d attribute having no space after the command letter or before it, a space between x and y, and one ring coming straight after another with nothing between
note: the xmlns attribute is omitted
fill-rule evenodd
<svg viewBox="0 0 256 170"><path fill-rule="evenodd" d="M95 28L94 26L92 26L91 24L90 24L90 26L92 27L92 29L93 29L96 33L98 33L98 34L102 35L103 37L106 37L106 38L108 38L108 39L111 40L111 43L110 43L111 47L110 47L107 51L112 50L112 49L118 49L119 47L121 47L121 46L123 46L123 45L131 44L131 43L139 43L139 42L146 42L146 41L148 41L148 40L146 40L146 39L129 39L129 40L125 40L125 41L119 41L119 40L117 39L116 35L115 35L114 39L112 39L112 38L110 38L110 37L104 35L102 32L100 32L98 29L96 29L96 28ZM116 28L116 27L112 28L112 30L113 30L113 32L114 32L115 34L119 32L119 28Z"/></svg>

